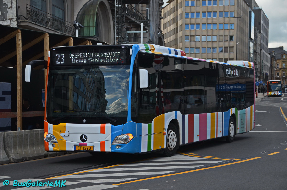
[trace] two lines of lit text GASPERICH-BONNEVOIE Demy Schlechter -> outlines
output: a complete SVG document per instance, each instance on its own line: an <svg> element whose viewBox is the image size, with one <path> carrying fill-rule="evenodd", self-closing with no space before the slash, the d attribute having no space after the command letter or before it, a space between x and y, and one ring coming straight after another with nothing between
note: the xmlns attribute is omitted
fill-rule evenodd
<svg viewBox="0 0 287 190"><path fill-rule="evenodd" d="M72 63L117 62L121 52L70 53Z"/></svg>

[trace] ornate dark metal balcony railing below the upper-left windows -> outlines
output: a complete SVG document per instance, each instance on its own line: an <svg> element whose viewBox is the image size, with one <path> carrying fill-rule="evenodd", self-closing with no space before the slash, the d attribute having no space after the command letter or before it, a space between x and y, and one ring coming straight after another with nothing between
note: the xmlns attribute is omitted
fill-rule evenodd
<svg viewBox="0 0 287 190"><path fill-rule="evenodd" d="M26 4L26 18L47 28L75 36L75 28L71 22L44 12L36 7Z"/></svg>

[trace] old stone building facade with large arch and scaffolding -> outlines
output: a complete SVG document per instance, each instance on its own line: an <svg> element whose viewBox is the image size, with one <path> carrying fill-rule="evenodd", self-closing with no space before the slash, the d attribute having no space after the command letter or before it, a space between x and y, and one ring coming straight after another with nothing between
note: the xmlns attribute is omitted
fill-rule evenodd
<svg viewBox="0 0 287 190"><path fill-rule="evenodd" d="M106 42L143 42L164 45L160 30L160 0L5 0L0 1L0 24L75 36L73 21L84 28L78 36Z"/></svg>

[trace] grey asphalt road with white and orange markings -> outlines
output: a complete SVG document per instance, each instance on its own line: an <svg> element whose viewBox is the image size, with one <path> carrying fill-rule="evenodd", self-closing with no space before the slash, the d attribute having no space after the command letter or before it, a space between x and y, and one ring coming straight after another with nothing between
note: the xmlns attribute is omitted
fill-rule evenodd
<svg viewBox="0 0 287 190"><path fill-rule="evenodd" d="M61 189L286 189L287 94L265 96L255 110L255 129L232 143L214 139L182 146L172 157L81 152L0 165L0 190L52 188L13 187L13 180L29 179L66 181ZM5 180L10 182L3 187Z"/></svg>

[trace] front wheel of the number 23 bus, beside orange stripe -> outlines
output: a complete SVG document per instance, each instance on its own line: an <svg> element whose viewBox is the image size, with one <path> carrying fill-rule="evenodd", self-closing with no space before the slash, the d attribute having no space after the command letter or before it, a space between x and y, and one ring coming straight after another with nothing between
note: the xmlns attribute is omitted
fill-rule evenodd
<svg viewBox="0 0 287 190"><path fill-rule="evenodd" d="M166 133L166 148L163 155L166 157L173 156L179 147L179 133L173 123L169 123Z"/></svg>

